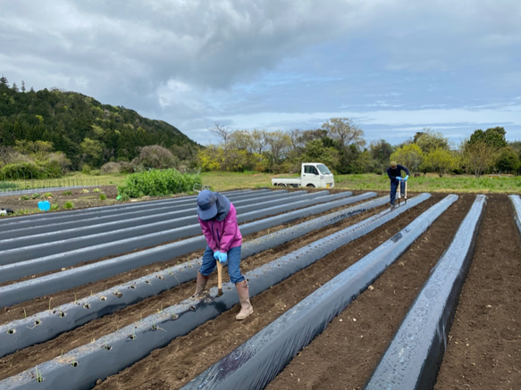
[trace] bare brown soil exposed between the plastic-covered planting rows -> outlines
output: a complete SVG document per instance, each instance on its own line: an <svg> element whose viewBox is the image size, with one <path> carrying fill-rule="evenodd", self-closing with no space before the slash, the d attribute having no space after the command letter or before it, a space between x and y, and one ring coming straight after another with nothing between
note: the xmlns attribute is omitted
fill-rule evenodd
<svg viewBox="0 0 521 390"><path fill-rule="evenodd" d="M101 188L100 188L101 189ZM115 187L102 191L115 202ZM112 192L111 192L112 191ZM88 194L87 194L88 195ZM90 194L92 195L92 194ZM100 205L98 199L85 193L69 195L78 207ZM444 194L433 194L428 201L401 214L397 219L374 230L335 253L325 256L306 270L284 280L252 298L255 312L244 321L236 321L236 307L206 322L187 336L178 337L164 348L150 353L117 375L99 381L97 389L177 389L219 361L239 344L265 328L284 311L334 278L351 264L370 253L378 245L405 228L408 223L440 201ZM8 199L9 198L9 199ZM1 207L21 207L20 199L0 197ZM83 199L81 199L83 198ZM466 216L475 195L459 195L458 201L420 236L372 288L349 305L320 336L267 386L268 389L360 389L371 375L387 344L424 285L431 269L450 245L459 223ZM104 201L105 202L105 201ZM5 205L4 205L5 204ZM75 207L76 208L76 207ZM377 211L374 211L377 212ZM247 272L265 262L290 253L302 245L327 236L359 220L368 212L321 229L290 243L242 261ZM1 223L1 220L0 220ZM246 236L245 241L257 235ZM191 253L197 258L201 252ZM113 278L80 286L63 293L44 296L30 302L4 308L0 323L23 318L102 291L155 270L187 261L171 261L132 270ZM507 195L488 195L483 222L479 230L475 256L460 296L458 310L450 329L447 351L441 364L436 389L519 389L521 388L521 238L513 219ZM216 285L215 276L209 286ZM13 376L66 353L90 340L138 321L179 303L193 293L195 282L173 288L144 302L132 305L113 315L105 316L0 359L0 379Z"/></svg>

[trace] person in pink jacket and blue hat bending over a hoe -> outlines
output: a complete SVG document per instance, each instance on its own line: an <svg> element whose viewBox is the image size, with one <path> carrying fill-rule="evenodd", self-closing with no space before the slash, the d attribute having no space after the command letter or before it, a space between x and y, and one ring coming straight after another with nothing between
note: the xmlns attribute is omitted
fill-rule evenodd
<svg viewBox="0 0 521 390"><path fill-rule="evenodd" d="M248 280L239 269L242 236L235 207L226 196L204 189L197 195L197 217L207 245L203 264L197 271L196 292L192 296L205 289L217 261L228 261L228 275L237 288L240 302L240 311L235 319L246 319L253 312L253 306L249 302Z"/></svg>

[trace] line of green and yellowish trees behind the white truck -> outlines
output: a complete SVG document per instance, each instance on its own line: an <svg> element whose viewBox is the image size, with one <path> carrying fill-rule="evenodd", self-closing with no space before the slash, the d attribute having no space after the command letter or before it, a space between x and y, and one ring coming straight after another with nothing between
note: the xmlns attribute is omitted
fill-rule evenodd
<svg viewBox="0 0 521 390"><path fill-rule="evenodd" d="M459 145L441 132L422 129L411 139L391 145L384 139L366 144L364 131L349 118L332 118L320 129L289 132L232 130L215 123L209 129L219 139L199 151L203 170L295 172L301 162L324 162L340 174L382 174L390 161L413 172L518 174L521 143L506 141L501 127L476 129Z"/></svg>

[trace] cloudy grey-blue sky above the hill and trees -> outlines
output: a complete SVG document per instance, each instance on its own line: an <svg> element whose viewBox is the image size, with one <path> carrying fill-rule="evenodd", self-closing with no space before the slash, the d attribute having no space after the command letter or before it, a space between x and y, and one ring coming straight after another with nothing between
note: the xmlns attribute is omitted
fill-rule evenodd
<svg viewBox="0 0 521 390"><path fill-rule="evenodd" d="M0 73L208 131L521 140L520 0L0 0Z"/></svg>

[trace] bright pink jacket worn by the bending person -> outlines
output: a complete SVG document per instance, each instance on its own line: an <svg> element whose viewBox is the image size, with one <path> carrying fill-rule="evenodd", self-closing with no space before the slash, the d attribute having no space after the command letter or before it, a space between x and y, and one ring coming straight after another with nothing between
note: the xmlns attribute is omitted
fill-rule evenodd
<svg viewBox="0 0 521 390"><path fill-rule="evenodd" d="M206 237L206 242L212 251L228 252L242 244L239 224L237 223L237 212L233 204L224 220L201 220L199 225Z"/></svg>

